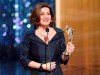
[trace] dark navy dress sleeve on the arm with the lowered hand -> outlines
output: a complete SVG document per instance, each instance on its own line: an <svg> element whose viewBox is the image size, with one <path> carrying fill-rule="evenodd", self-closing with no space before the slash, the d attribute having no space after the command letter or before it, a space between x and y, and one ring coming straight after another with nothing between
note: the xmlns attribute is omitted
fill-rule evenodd
<svg viewBox="0 0 100 75"><path fill-rule="evenodd" d="M30 39L29 36L26 35L23 42L20 43L19 45L20 62L24 67L28 67L29 62L31 62L31 60L29 59L29 47L30 47Z"/></svg>

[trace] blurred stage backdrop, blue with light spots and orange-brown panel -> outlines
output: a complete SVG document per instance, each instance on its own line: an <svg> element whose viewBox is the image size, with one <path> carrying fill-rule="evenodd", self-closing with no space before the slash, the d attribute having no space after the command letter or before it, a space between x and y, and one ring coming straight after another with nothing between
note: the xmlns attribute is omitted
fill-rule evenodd
<svg viewBox="0 0 100 75"><path fill-rule="evenodd" d="M47 2L56 14L56 26L74 29L75 51L64 75L100 74L100 0L0 0L0 75L28 75L19 63L19 43L33 29L29 16L39 2ZM68 35L65 31L66 42Z"/></svg>

